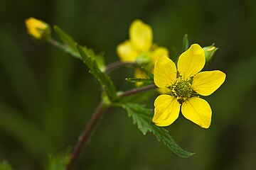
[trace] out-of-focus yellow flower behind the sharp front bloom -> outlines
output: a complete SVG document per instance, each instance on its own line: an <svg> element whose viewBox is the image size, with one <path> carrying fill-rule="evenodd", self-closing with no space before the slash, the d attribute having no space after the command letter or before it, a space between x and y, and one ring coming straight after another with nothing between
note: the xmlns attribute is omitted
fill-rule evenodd
<svg viewBox="0 0 256 170"><path fill-rule="evenodd" d="M129 27L129 40L117 46L117 55L123 62L136 62L153 72L157 58L167 57L168 50L165 47L157 47L152 41L151 27L137 19ZM137 69L134 77L144 78L145 75Z"/></svg>

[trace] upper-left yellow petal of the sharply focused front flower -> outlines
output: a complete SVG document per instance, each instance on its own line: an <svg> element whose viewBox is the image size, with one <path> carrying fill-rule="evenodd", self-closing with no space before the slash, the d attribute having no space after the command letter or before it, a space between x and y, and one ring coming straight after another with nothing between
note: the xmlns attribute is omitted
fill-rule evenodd
<svg viewBox="0 0 256 170"><path fill-rule="evenodd" d="M168 57L160 57L154 67L154 83L159 88L166 88L176 80L176 65Z"/></svg>

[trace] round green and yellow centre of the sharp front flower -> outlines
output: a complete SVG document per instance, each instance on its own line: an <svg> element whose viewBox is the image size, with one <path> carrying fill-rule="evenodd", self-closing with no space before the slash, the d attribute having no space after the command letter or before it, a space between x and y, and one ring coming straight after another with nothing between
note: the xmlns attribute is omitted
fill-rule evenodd
<svg viewBox="0 0 256 170"><path fill-rule="evenodd" d="M176 96L179 103L183 103L193 94L190 80L184 80L182 77L176 79L175 84L171 86L171 94Z"/></svg>

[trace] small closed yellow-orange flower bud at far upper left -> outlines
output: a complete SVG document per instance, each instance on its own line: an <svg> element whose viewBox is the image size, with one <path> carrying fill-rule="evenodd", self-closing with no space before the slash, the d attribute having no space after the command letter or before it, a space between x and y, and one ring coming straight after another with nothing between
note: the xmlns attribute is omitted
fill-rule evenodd
<svg viewBox="0 0 256 170"><path fill-rule="evenodd" d="M37 40L47 40L50 36L50 27L47 23L36 18L28 18L25 21L28 34Z"/></svg>

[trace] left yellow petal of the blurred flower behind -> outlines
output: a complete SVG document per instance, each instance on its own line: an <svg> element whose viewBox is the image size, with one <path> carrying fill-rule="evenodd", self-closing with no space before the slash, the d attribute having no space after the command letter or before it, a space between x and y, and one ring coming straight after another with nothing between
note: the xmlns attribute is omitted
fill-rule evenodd
<svg viewBox="0 0 256 170"><path fill-rule="evenodd" d="M123 62L135 62L139 54L132 47L132 43L127 40L117 46L117 55Z"/></svg>

